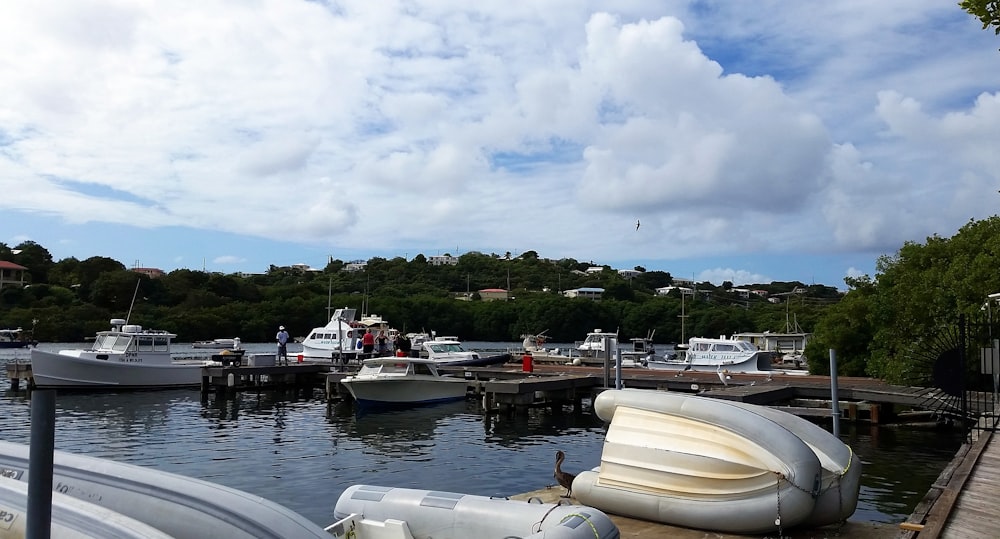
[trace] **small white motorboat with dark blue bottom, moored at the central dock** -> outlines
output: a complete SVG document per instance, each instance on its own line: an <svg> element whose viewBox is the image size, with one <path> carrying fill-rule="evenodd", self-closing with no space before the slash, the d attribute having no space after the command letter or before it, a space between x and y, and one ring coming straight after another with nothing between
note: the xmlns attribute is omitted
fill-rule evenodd
<svg viewBox="0 0 1000 539"><path fill-rule="evenodd" d="M443 375L427 358L376 357L340 381L359 406L419 405L465 398L467 383Z"/></svg>

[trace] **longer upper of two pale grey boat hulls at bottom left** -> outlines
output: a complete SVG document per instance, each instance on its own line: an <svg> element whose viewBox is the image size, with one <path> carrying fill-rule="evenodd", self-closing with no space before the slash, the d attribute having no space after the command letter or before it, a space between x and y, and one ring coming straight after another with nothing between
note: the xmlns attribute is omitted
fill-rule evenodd
<svg viewBox="0 0 1000 539"><path fill-rule="evenodd" d="M0 441L0 475L28 481L27 445ZM54 454L53 490L173 537L325 538L317 524L253 494L107 459Z"/></svg>

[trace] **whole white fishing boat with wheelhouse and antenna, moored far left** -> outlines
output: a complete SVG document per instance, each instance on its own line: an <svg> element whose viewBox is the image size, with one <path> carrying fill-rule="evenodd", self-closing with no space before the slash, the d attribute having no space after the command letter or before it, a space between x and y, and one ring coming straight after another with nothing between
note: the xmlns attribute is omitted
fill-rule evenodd
<svg viewBox="0 0 1000 539"><path fill-rule="evenodd" d="M111 320L111 330L99 331L89 349L48 352L31 350L32 384L37 388L138 389L201 385L200 359L173 359L166 331L144 329Z"/></svg>

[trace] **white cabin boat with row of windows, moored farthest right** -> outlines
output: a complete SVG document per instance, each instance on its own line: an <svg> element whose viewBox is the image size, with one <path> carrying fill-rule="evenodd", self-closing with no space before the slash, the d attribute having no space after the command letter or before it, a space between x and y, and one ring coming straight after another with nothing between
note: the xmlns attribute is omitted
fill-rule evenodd
<svg viewBox="0 0 1000 539"><path fill-rule="evenodd" d="M647 367L666 370L766 373L772 371L768 352L752 343L725 336L718 339L691 337L679 356L652 357Z"/></svg>

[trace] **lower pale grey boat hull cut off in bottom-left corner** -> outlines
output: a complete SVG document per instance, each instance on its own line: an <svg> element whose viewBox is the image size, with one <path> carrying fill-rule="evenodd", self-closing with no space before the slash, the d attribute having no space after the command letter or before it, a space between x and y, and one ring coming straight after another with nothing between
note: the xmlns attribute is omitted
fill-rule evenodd
<svg viewBox="0 0 1000 539"><path fill-rule="evenodd" d="M49 537L55 539L170 539L170 535L99 505L52 493ZM0 539L28 535L28 484L0 476Z"/></svg>

